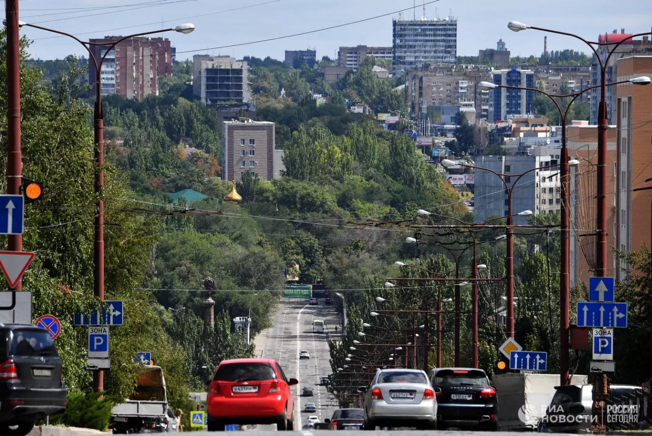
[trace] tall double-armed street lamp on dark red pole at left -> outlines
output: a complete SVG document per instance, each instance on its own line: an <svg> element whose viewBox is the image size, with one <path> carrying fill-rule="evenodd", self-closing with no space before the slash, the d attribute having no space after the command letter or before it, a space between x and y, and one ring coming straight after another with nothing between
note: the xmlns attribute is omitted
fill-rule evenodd
<svg viewBox="0 0 652 436"><path fill-rule="evenodd" d="M123 42L126 39L134 38L136 36L145 36L148 34L162 33L168 31L175 31L179 33L188 34L194 31L195 27L191 23L185 23L182 25L178 25L177 27L171 27L169 29L160 29L157 31L140 32L140 33L130 34L127 36L122 36L121 38L118 38L117 40L112 42L89 42L89 41L82 41L80 40L80 38L77 38L77 36L74 36L73 34L55 30L55 29L49 29L48 27L42 27L36 24L25 23L23 21L18 21L18 24L21 27L22 26L34 27L35 29L61 34L63 36L68 36L76 40L77 42L82 44L83 48L85 48L86 51L88 51L89 59L93 61L93 64L95 66L95 106L93 109L93 118L94 118L93 133L94 133L95 147L93 148L93 157L95 158L95 164L97 168L95 172L95 194L97 195L97 203L96 203L95 223L94 223L95 243L93 249L93 264L95 268L94 269L95 279L93 282L93 291L95 293L95 296L98 297L98 299L104 300L104 113L102 111L102 75L101 75L102 64L104 63L104 60L111 52L111 50L115 48L117 44ZM108 47L104 55L102 55L102 57L99 60L95 57L95 54L91 49L91 47L95 47L95 46ZM95 370L95 372L93 372L93 386L96 392L101 392L102 390L104 390L104 371Z"/></svg>

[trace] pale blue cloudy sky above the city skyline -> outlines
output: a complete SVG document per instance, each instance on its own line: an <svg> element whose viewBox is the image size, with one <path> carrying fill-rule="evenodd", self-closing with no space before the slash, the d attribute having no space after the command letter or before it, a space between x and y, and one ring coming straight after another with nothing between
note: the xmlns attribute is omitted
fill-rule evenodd
<svg viewBox="0 0 652 436"><path fill-rule="evenodd" d="M507 28L512 20L573 33L589 41L614 29L625 29L625 33L652 31L649 0L425 3L426 18L458 20L458 56L477 56L481 49L495 49L499 39L512 57L539 56L546 35L548 51L590 52L584 42L572 36L532 29L514 33ZM393 19L424 15L423 0L19 0L18 7L21 21L65 31L83 41L193 23L196 29L190 34L150 35L169 38L177 49L177 60L192 59L197 54L283 60L285 50L308 48L316 49L318 59L334 58L340 46L391 46ZM299 33L306 34L289 36ZM21 34L33 41L28 52L35 59L87 57L82 44L68 36L25 26ZM258 42L261 40L267 41Z"/></svg>

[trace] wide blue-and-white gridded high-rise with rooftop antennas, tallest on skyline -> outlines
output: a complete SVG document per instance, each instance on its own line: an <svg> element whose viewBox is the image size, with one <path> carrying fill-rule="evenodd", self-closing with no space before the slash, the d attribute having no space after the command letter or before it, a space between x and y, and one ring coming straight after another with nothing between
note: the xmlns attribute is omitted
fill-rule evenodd
<svg viewBox="0 0 652 436"><path fill-rule="evenodd" d="M457 19L394 20L392 70L403 74L430 65L454 64L457 59Z"/></svg>

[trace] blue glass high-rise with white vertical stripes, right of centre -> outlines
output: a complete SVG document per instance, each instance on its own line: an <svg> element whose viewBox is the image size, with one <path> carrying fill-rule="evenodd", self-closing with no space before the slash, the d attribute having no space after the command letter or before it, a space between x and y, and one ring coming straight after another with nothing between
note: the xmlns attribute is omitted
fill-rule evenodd
<svg viewBox="0 0 652 436"><path fill-rule="evenodd" d="M531 70L496 70L491 73L495 85L534 88L534 72ZM507 120L510 115L532 113L532 100L535 91L494 88L489 91L489 122Z"/></svg>

